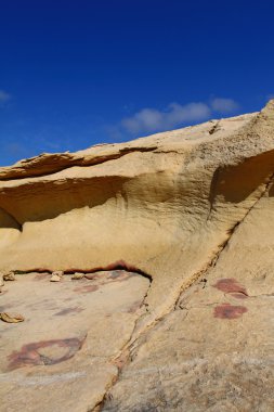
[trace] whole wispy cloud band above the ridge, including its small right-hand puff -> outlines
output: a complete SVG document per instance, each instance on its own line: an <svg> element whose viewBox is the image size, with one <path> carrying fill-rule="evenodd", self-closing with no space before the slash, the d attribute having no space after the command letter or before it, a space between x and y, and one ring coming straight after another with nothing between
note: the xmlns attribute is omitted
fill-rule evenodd
<svg viewBox="0 0 274 412"><path fill-rule="evenodd" d="M143 108L121 120L121 128L131 134L171 130L175 127L201 121L212 114L236 112L239 105L233 99L214 98L209 103L170 103L166 110Z"/></svg>

